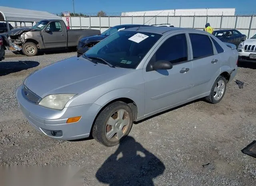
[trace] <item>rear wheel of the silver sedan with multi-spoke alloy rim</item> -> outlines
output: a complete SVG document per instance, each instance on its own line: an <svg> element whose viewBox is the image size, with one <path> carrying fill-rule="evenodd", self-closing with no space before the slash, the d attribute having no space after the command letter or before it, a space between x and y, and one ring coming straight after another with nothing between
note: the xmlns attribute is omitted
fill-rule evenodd
<svg viewBox="0 0 256 186"><path fill-rule="evenodd" d="M221 85L220 85L221 84ZM224 85L224 87L222 87ZM227 87L226 78L219 76L213 83L210 95L205 97L206 102L216 104L219 103L225 95ZM217 92L218 91L218 92ZM218 94L219 95L216 95Z"/></svg>

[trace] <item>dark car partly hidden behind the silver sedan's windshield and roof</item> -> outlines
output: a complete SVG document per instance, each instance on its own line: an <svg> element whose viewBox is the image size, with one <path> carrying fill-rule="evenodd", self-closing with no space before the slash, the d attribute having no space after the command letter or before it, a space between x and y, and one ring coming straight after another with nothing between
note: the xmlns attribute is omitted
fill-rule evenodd
<svg viewBox="0 0 256 186"><path fill-rule="evenodd" d="M118 25L118 26L113 26L106 30L105 32L102 32L98 36L88 36L82 38L78 46L76 47L77 49L77 55L80 56L84 52L86 52L88 49L96 45L98 42L101 40L105 39L106 37L110 36L111 34L114 34L115 32L118 32L120 30L124 30L127 28L134 28L134 27L139 27L139 26L148 26L148 25L140 25L140 24L123 24L123 25Z"/></svg>

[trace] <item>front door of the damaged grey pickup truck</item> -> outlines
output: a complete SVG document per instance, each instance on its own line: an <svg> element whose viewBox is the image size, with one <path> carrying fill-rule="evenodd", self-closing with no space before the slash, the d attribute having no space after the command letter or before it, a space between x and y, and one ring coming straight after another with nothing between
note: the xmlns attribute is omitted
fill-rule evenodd
<svg viewBox="0 0 256 186"><path fill-rule="evenodd" d="M50 32L46 32L45 29L49 28ZM42 30L42 37L44 40L45 48L58 48L67 46L67 32L62 28L60 21L52 21L48 26Z"/></svg>

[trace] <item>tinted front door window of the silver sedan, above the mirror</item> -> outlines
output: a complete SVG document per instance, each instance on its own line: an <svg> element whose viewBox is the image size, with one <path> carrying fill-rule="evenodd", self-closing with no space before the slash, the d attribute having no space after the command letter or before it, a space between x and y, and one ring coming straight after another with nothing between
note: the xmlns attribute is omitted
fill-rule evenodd
<svg viewBox="0 0 256 186"><path fill-rule="evenodd" d="M188 60L188 47L185 34L168 38L156 51L154 61L166 60L173 65Z"/></svg>

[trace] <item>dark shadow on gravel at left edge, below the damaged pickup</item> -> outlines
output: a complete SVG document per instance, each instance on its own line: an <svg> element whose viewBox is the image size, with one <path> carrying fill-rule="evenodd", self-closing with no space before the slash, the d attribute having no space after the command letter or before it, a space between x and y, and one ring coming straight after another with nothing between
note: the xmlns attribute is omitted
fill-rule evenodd
<svg viewBox="0 0 256 186"><path fill-rule="evenodd" d="M40 63L37 61L4 61L0 62L0 76L10 73L27 70L37 67Z"/></svg>

